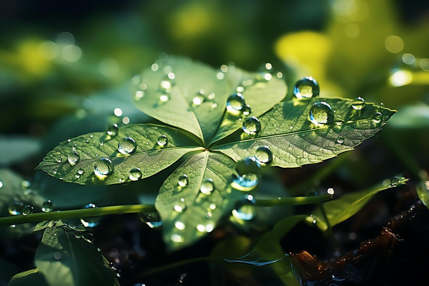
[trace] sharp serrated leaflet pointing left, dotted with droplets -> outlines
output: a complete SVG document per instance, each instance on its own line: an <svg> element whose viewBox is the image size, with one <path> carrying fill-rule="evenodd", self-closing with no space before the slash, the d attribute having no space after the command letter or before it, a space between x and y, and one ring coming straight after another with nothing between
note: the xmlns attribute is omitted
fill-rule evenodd
<svg viewBox="0 0 429 286"><path fill-rule="evenodd" d="M157 144L158 137L166 135L168 143L163 148ZM124 137L131 137L137 147L132 154L118 152L118 142ZM76 145L76 146L75 146ZM106 132L94 132L63 141L50 151L36 169L63 181L77 184L120 184L129 182L130 170L139 168L141 178L146 178L167 168L183 154L201 149L184 132L167 126L155 124L132 124L119 128L113 138ZM71 164L68 154L79 154L79 162ZM100 158L112 161L113 172L103 178L94 174L94 165ZM79 170L82 174L79 174Z"/></svg>

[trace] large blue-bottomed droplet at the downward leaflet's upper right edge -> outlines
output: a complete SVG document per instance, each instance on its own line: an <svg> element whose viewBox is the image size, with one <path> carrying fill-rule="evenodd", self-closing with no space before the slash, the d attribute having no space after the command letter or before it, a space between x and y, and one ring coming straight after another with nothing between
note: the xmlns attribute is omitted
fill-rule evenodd
<svg viewBox="0 0 429 286"><path fill-rule="evenodd" d="M240 191L253 190L261 178L261 165L255 157L247 157L240 160L235 167L231 187Z"/></svg>

